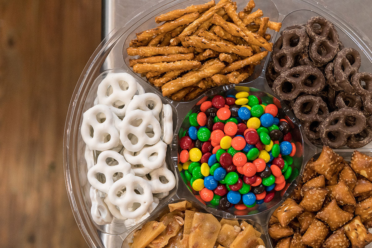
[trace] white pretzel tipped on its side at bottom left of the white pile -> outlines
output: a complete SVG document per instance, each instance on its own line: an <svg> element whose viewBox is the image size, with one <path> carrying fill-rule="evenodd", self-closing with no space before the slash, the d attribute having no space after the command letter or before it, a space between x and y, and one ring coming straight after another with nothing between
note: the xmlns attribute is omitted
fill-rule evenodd
<svg viewBox="0 0 372 248"><path fill-rule="evenodd" d="M107 206L107 204L100 197L102 192L94 189L93 186L90 187L89 196L92 201L92 207L90 208L90 213L94 222L98 225L106 225L112 222L113 216Z"/></svg>

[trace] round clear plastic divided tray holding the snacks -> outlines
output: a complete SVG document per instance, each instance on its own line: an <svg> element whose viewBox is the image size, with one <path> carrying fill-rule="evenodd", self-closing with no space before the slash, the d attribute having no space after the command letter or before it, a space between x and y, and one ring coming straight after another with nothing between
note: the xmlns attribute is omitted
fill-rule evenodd
<svg viewBox="0 0 372 248"><path fill-rule="evenodd" d="M213 209L211 207L205 207L187 189L186 185L182 182L176 165L178 152L177 133L179 133L179 130L183 125L183 120L189 110L205 96L213 96L229 90L235 93L237 91L246 91L248 89L246 87L252 87L251 92L253 94L261 94L261 96L263 94L268 98L271 98L271 96L275 97L275 94L272 93L272 90L270 90L270 87L266 83L264 72L264 69L270 61L270 53L260 65L256 66L253 75L247 78L244 82L239 85L229 84L212 88L191 102L175 102L167 97L163 97L157 88L148 84L148 82L144 78L141 78L140 75L133 73L132 69L129 67L129 56L126 56L125 53L123 56L123 49L129 46L129 41L135 37L135 33L148 28L154 28L154 17L161 13L204 2L205 1L201 0L166 0L138 13L138 15L134 16L130 22L125 23L122 27L115 28L109 36L104 39L81 74L68 110L64 137L64 164L68 196L73 208L74 216L90 247L107 247L107 245L120 247L122 244L123 247L128 247L128 239L130 239L133 232L143 224L135 225L129 229L125 228L122 223L115 222L109 225L99 226L93 222L90 216L90 185L86 178L87 166L84 159L85 144L81 139L80 126L83 113L93 106L98 82L102 80L105 75L102 74L104 72L126 72L133 75L138 83L140 83L144 88L145 92L158 94L161 97L162 102L164 104L170 104L173 110L174 137L172 143L167 149L166 162L168 167L176 175L176 187L170 191L169 196L160 201L158 207L150 214L150 217L146 221L157 218L159 213L162 212L168 203L187 199L196 204L200 209L213 213L219 218L239 218L249 220L255 228L266 235L266 238L263 238L266 247L272 247L271 239L267 234L267 223L271 213L294 190L297 181L301 178L304 164L311 157L319 154L321 151L319 147L316 147L307 141L301 132L301 125L299 125L298 120L296 120L293 113L286 108L285 104L282 103L283 111L294 123L294 130L298 130L294 139L301 142L302 150L304 151L302 157L298 158L298 163L300 164L300 175L292 182L291 186L284 194L283 199L276 199L276 201L273 201L275 204L260 205L259 213L250 212L248 215L237 217L232 213ZM238 0L238 9L242 9L246 3L246 0ZM370 50L372 47L371 41L369 41L365 36L360 35L360 32L358 32L356 28L351 27L342 17L333 13L331 10L319 6L313 1L303 0L278 0L275 1L275 4L270 0L257 0L256 5L263 10L265 16L270 17L271 21L282 22L282 27L306 23L306 21L312 16L323 16L327 18L336 27L340 40L343 42L345 47L351 46L360 53L362 65L359 70L368 72L372 71L372 52ZM272 30L268 31L268 33L272 35L271 42L275 42L280 36L279 33L274 33ZM115 63L105 63L108 61L115 61ZM235 86L237 87L235 88ZM367 155L372 154L372 146L370 144L358 150ZM345 159L350 159L353 149L338 149L335 150L335 152L343 156ZM128 239L125 239L127 236ZM124 240L125 242L123 243Z"/></svg>

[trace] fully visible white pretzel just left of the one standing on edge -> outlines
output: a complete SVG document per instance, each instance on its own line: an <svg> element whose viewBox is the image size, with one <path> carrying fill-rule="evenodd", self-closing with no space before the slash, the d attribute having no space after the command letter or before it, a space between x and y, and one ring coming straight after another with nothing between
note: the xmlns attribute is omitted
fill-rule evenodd
<svg viewBox="0 0 372 248"><path fill-rule="evenodd" d="M128 112L119 124L119 129L121 143L131 152L155 144L161 136L160 123L152 112L140 109Z"/></svg>

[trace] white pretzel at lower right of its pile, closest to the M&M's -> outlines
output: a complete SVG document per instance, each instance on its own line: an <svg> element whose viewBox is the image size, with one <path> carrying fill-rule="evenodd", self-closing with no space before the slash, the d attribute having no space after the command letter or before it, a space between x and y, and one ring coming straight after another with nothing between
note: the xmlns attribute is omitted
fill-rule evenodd
<svg viewBox="0 0 372 248"><path fill-rule="evenodd" d="M147 176L143 176L142 178L148 181L153 189L153 193L167 192L176 186L176 178L174 177L173 173L168 170L166 165L150 171L149 174L151 177L150 180L147 178Z"/></svg>

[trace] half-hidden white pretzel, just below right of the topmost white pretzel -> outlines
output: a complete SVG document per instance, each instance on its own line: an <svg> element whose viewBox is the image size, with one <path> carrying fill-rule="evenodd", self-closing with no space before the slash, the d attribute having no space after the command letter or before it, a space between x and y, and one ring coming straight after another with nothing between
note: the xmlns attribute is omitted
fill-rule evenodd
<svg viewBox="0 0 372 248"><path fill-rule="evenodd" d="M155 118L159 120L159 115L163 103L160 97L154 93L145 93L134 96L132 101L129 103L127 111L133 111L141 109L143 111L151 111Z"/></svg>

